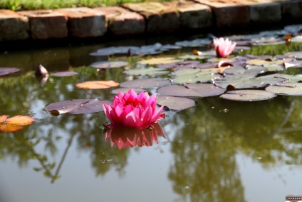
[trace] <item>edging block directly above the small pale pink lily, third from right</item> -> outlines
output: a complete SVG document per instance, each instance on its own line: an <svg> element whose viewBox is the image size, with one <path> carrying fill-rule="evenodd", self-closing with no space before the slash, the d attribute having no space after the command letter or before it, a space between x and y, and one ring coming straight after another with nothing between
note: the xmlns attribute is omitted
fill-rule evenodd
<svg viewBox="0 0 302 202"><path fill-rule="evenodd" d="M249 1L204 1L200 4L210 6L214 14L217 28L244 27L249 25Z"/></svg>

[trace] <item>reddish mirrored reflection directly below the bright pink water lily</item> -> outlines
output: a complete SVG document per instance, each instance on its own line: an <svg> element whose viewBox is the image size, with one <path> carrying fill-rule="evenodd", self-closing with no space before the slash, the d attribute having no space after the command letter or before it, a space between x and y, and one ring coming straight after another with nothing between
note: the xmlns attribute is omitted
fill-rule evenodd
<svg viewBox="0 0 302 202"><path fill-rule="evenodd" d="M158 136L165 137L162 126L152 123L149 128L130 128L125 126L109 125L105 127L105 141L110 138L111 146L114 144L118 149L134 146L152 146L153 142L158 144Z"/></svg>

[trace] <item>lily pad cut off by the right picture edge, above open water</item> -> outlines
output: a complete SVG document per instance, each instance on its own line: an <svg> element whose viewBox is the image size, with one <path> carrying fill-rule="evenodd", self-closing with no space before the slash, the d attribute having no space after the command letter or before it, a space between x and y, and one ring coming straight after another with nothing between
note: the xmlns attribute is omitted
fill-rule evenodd
<svg viewBox="0 0 302 202"><path fill-rule="evenodd" d="M278 84L267 87L266 91L283 96L302 96L302 83Z"/></svg>

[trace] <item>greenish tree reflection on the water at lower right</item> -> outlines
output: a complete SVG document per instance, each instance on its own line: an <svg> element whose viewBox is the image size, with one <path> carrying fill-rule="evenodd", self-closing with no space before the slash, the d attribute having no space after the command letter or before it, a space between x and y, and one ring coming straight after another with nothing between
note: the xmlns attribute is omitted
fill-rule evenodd
<svg viewBox="0 0 302 202"><path fill-rule="evenodd" d="M198 102L198 106L172 116L169 125L182 126L175 130L172 141L175 155L169 178L175 192L183 198L245 201L236 165L238 152L254 161L261 157L258 162L265 168L301 165L298 151L302 136L301 127L297 127L302 126L300 98L279 96L261 102L208 98Z"/></svg>

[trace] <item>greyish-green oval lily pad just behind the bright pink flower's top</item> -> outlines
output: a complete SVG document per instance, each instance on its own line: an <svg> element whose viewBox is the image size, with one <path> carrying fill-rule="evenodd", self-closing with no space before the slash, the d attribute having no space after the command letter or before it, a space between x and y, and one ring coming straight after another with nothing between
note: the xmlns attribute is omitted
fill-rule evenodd
<svg viewBox="0 0 302 202"><path fill-rule="evenodd" d="M167 86L171 84L167 79L136 79L131 81L125 81L120 84L123 88L140 88L140 89L153 89L161 86Z"/></svg>

